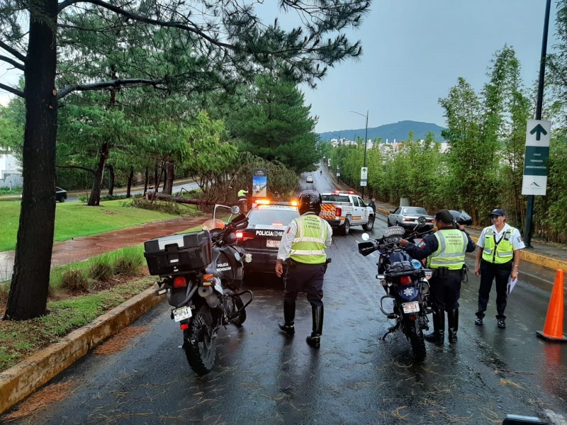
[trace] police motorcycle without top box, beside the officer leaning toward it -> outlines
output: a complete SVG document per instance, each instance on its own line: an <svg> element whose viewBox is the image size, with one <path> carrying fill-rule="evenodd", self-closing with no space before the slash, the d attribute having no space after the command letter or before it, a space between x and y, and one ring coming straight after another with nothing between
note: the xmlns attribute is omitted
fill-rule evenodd
<svg viewBox="0 0 567 425"><path fill-rule="evenodd" d="M433 232L430 225L425 225L425 217L419 217L417 226L410 237L417 239ZM410 341L415 361L425 361L425 339L423 330L429 329L427 314L431 312L429 304L430 284L428 278L432 270L424 268L418 260L412 259L406 253L400 241L407 236L405 229L400 226L388 227L380 239L371 239L368 234L362 234L364 242L359 242L359 253L367 256L378 251L378 274L376 278L386 290L386 295L380 299L380 310L388 319L395 319L395 324L388 328L382 340L388 334L400 330ZM384 300L391 300L391 311L384 309Z"/></svg>

